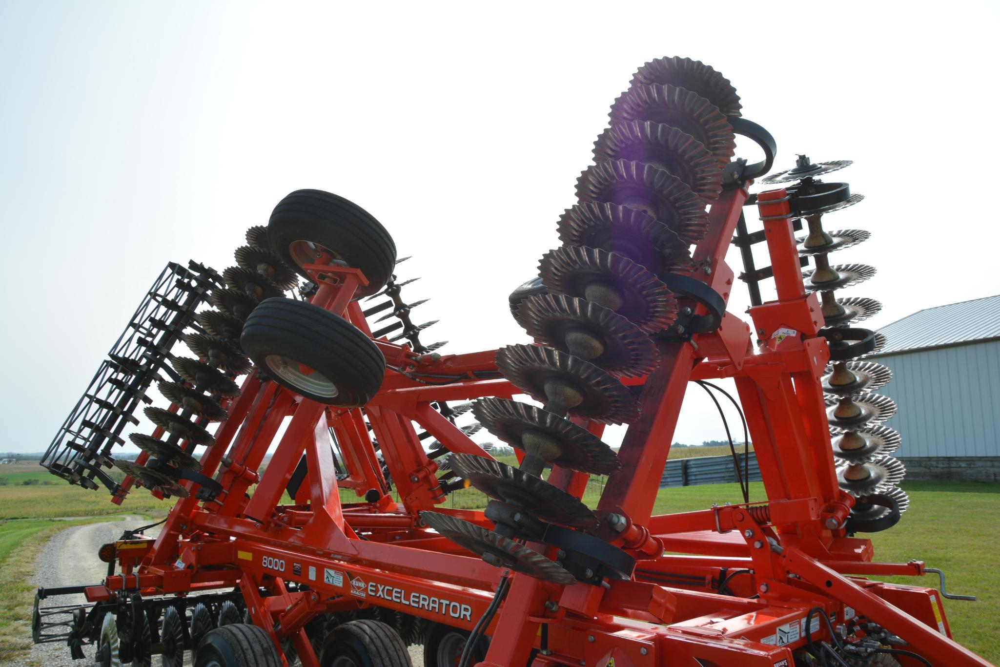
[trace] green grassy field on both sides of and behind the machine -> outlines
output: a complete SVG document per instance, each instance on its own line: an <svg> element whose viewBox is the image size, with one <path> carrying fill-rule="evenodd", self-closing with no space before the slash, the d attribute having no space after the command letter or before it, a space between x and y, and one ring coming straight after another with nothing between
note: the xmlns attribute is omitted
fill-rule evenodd
<svg viewBox="0 0 1000 667"><path fill-rule="evenodd" d="M695 448L674 451L687 454L690 449ZM705 455L707 449L696 451ZM501 460L514 462L513 457ZM37 481L25 484L25 480ZM52 483L45 484L46 481ZM604 482L600 477L592 479L584 502L596 505ZM996 553L1000 550L996 538L1000 534L1000 485L911 482L904 483L903 488L910 494L910 510L899 525L871 536L877 559L924 560L928 566L945 571L950 592L978 595L976 602L945 601L952 632L971 650L1000 662L1000 633L995 622L1000 618L1000 568L996 565ZM751 501L763 500L763 485L752 483L750 494ZM348 502L359 500L349 490L342 491L342 497ZM654 513L686 512L705 509L712 503L740 500L735 484L661 489ZM467 489L452 494L447 506L481 508L485 502L485 496ZM26 640L30 641L25 621L33 594L28 579L33 574L34 555L50 536L75 525L46 519L109 520L122 512L155 517L162 515L170 504L139 489L123 505L113 505L106 492L72 487L37 465L0 466L0 577L5 582L0 591L0 664L17 655ZM936 577L889 580L937 587Z"/></svg>

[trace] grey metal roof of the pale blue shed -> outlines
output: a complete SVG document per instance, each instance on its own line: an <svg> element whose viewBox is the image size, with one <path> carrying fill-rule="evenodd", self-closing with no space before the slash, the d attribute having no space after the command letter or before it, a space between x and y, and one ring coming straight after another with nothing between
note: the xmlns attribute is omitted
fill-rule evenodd
<svg viewBox="0 0 1000 667"><path fill-rule="evenodd" d="M1000 294L925 308L879 331L889 340L877 356L1000 338Z"/></svg>

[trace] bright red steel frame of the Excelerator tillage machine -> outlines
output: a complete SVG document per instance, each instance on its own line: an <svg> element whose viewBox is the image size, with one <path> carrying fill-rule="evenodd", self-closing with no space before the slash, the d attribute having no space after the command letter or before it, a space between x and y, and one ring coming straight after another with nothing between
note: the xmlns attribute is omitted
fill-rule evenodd
<svg viewBox="0 0 1000 667"><path fill-rule="evenodd" d="M692 275L727 300L734 275L724 257L746 198L745 189L723 194L694 253L698 268ZM216 444L201 459L222 493L210 502L199 502L194 494L180 499L160 535L149 540L141 564L134 565L134 552L123 557L121 574L89 588L88 598L106 600L113 591L135 587L153 595L238 585L255 624L276 641L291 637L303 664L314 667L317 656L303 626L318 613L378 605L471 629L500 577L510 575L510 591L487 628L492 642L480 665L791 665L791 650L803 646L806 614L813 607L839 622L856 610L934 664L989 664L950 639L937 591L864 578L920 575L923 563L873 562L871 542L847 537L840 528L853 499L838 488L831 455L819 381L829 360L826 341L817 336L823 326L820 306L803 287L787 193L764 192L758 207L777 299L750 309L753 332L726 313L717 331L666 343L659 369L634 381L644 384L642 417L625 435L619 452L623 469L609 478L597 509L601 517L624 516L627 528L596 533L639 559L631 581L605 587L542 582L498 570L423 528L417 512L427 509L491 524L482 512L441 507L445 494L435 478L437 465L425 454L414 424L452 452L489 457L431 402L511 397L519 391L505 380L475 377L476 371L496 370L493 350L421 356L382 339L376 343L391 366L467 379L430 386L390 369L368 405L340 409L247 377L228 406ZM370 335L352 300L355 289L366 284L364 276L324 265L306 269L320 285L312 302ZM779 329L794 333L775 336ZM755 338L762 342L755 345ZM726 377L736 382L768 501L651 516L687 383ZM366 422L381 444L399 503L385 493ZM579 423L600 434L600 425ZM328 429L350 472L339 482ZM303 454L308 475L292 503L283 504ZM579 497L587 477L555 468L549 481ZM359 496L381 490L382 496L375 503L342 502L341 487ZM714 592L713 578L736 569L753 570L733 579L730 587L738 596ZM660 574L693 583L663 585L657 583ZM305 586L289 590L286 583L292 581ZM812 635L829 640L818 622Z"/></svg>

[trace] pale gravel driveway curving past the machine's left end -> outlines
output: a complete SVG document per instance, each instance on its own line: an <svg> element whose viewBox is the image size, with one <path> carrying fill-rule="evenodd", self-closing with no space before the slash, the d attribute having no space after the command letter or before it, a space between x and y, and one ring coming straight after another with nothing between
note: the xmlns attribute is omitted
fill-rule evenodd
<svg viewBox="0 0 1000 667"><path fill-rule="evenodd" d="M49 540L35 559L35 576L31 583L35 586L70 586L74 584L97 583L107 574L107 564L97 559L97 550L102 544L121 537L122 531L148 524L148 520L126 517L123 521L92 523L85 526L67 528ZM147 532L156 533L156 529ZM63 595L50 598L48 604L67 605L86 602L83 595ZM43 602L43 605L45 603ZM25 633L31 630L25 626ZM86 660L73 660L69 649L63 643L38 644L23 660L4 663L4 667L85 667L92 664L93 646L84 647ZM423 648L410 647L410 658L415 667L423 665ZM190 653L184 661L190 663ZM153 665L159 667L159 656L153 657Z"/></svg>

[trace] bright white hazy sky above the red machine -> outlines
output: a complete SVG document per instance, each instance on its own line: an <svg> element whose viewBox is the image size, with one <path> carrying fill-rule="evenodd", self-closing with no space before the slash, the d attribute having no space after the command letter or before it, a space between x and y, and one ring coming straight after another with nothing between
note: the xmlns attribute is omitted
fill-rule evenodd
<svg viewBox="0 0 1000 667"><path fill-rule="evenodd" d="M234 264L298 188L414 256L428 342L526 341L507 294L558 245L608 106L663 55L733 81L776 169L855 161L836 176L867 200L827 225L873 232L834 261L879 269L841 292L882 300L875 326L996 294L998 7L5 0L0 450L45 449L167 261ZM723 437L700 393L681 442Z"/></svg>

